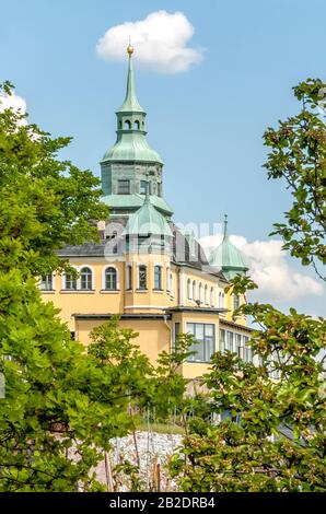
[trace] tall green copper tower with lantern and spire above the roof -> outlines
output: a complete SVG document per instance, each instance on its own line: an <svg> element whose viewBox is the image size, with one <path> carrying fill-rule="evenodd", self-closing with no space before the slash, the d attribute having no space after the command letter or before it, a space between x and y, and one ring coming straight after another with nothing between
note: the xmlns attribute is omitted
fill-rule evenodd
<svg viewBox="0 0 326 514"><path fill-rule="evenodd" d="M149 183L150 202L167 219L172 215L163 198L163 161L147 141L145 116L135 89L133 48L129 45L126 97L116 112L117 140L101 161L103 201L112 218L129 218L143 203Z"/></svg>

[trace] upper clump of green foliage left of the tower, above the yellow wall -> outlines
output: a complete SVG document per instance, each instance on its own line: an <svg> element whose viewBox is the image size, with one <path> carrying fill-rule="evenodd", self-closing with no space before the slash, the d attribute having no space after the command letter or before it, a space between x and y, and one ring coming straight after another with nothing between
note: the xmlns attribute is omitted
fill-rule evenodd
<svg viewBox="0 0 326 514"><path fill-rule="evenodd" d="M12 94L9 82L0 93ZM19 268L36 276L62 268L54 252L65 244L97 241L100 180L58 153L71 138L53 139L24 114L0 114L0 270Z"/></svg>

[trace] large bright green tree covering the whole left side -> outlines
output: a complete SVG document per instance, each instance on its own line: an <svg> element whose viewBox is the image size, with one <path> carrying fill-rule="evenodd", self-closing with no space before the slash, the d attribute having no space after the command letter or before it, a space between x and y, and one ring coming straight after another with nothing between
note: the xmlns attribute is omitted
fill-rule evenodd
<svg viewBox="0 0 326 514"><path fill-rule="evenodd" d="M112 437L135 430L127 407L152 400L160 384L164 401L183 393L186 346L155 370L137 334L113 319L86 350L40 299L37 278L69 269L57 250L96 241L92 220L107 217L98 180L58 160L68 142L0 113L0 491L101 489L91 468Z"/></svg>

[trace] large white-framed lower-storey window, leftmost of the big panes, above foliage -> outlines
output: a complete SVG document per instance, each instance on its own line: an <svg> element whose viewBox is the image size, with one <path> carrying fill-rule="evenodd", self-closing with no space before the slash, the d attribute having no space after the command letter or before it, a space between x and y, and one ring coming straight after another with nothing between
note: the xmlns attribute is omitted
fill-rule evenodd
<svg viewBox="0 0 326 514"><path fill-rule="evenodd" d="M187 323L187 332L194 336L190 351L196 351L188 358L193 362L209 362L216 351L214 325L205 323ZM196 342L195 342L196 341Z"/></svg>

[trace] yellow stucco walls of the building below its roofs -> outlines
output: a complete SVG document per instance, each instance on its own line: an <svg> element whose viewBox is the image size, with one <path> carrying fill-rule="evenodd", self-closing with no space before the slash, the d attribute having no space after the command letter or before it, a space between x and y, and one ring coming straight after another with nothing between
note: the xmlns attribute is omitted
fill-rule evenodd
<svg viewBox="0 0 326 514"><path fill-rule="evenodd" d="M107 315L107 314L164 314L168 307L191 307L198 308L197 303L188 297L188 280L195 281L197 284L196 296L199 299L199 284L202 284L200 307L221 307L230 308L230 313L218 315L217 313L205 312L174 312L172 319L121 319L120 327L132 328L139 332L135 340L140 350L145 353L150 360L155 363L159 353L163 350L170 351L171 341L175 323L179 323L179 332L187 331L187 323L209 323L216 326L216 350L219 348L219 316L222 319L232 318L233 295L232 292L226 293L225 282L218 277L206 273L205 271L195 270L190 267L179 267L171 262L166 255L130 255L126 256L126 260L106 260L105 258L85 258L79 257L70 259L70 264L78 270L82 267L90 267L93 272L93 291L66 291L63 287L63 278L56 276L54 279L54 292L43 291L45 301L53 301L54 304L61 309L61 318L68 323L71 331L75 332L75 337L83 343L90 341L89 334L95 326L105 323L104 319L78 319L75 322L74 314L80 315ZM145 291L139 291L138 284L138 267L147 266L148 287ZM162 291L154 290L154 266L162 267ZM128 291L127 287L127 267L132 268L132 289ZM117 291L105 291L104 272L107 267L114 267L117 270ZM205 287L207 285L208 294L205 297ZM210 290L213 288L213 297ZM78 283L79 289L79 283ZM224 295L224 305L221 305L221 297ZM213 302L211 302L211 300ZM213 303L213 305L212 305ZM238 323L245 324L245 319L238 319ZM171 327L171 328L168 328ZM228 329L228 328L226 328ZM172 330L172 334L171 334ZM187 362L182 366L182 373L194 378L202 375L209 370L209 365L202 362Z"/></svg>

